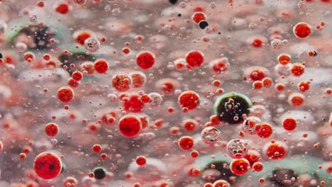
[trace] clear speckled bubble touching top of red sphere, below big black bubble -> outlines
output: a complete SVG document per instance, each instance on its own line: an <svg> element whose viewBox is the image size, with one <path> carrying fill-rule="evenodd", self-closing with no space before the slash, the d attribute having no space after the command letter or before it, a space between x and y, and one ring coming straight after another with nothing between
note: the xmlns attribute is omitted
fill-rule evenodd
<svg viewBox="0 0 332 187"><path fill-rule="evenodd" d="M244 140L233 139L227 144L227 152L233 159L240 159L248 153L248 143Z"/></svg>

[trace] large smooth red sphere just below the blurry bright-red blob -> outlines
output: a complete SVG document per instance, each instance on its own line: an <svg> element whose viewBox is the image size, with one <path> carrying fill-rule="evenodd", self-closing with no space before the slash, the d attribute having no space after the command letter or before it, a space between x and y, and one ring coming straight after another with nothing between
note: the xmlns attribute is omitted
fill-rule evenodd
<svg viewBox="0 0 332 187"><path fill-rule="evenodd" d="M133 115L125 115L118 122L118 128L125 137L135 137L140 133L142 125L140 120Z"/></svg>

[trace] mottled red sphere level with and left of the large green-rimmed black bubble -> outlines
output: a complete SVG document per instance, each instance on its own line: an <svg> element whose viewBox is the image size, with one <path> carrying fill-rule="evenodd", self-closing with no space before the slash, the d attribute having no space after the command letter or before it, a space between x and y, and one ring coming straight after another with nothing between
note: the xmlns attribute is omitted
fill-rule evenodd
<svg viewBox="0 0 332 187"><path fill-rule="evenodd" d="M182 108L193 110L199 106L199 95L194 91L184 91L179 95L178 101Z"/></svg>

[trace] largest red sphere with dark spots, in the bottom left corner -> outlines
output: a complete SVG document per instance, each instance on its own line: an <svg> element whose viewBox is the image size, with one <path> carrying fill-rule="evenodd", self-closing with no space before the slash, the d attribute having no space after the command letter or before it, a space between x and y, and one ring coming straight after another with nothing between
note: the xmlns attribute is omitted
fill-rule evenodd
<svg viewBox="0 0 332 187"><path fill-rule="evenodd" d="M62 163L56 154L43 152L35 158L33 169L43 179L54 179L61 173Z"/></svg>

